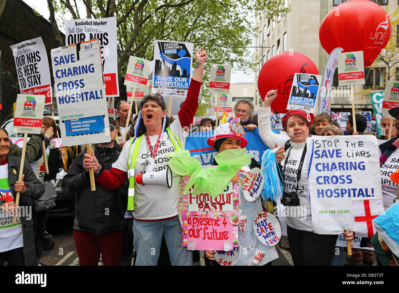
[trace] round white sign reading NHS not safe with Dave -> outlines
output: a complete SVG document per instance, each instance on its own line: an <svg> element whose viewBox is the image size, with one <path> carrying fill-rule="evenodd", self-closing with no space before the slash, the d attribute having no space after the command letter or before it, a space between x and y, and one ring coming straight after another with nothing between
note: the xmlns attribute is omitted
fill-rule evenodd
<svg viewBox="0 0 399 293"><path fill-rule="evenodd" d="M259 241L266 246L275 246L280 241L280 223L275 216L268 212L258 212L253 221L253 230Z"/></svg>

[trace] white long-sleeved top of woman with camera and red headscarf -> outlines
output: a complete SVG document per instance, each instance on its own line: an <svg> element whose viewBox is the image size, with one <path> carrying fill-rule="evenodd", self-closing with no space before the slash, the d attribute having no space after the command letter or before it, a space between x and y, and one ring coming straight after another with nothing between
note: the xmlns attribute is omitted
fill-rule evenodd
<svg viewBox="0 0 399 293"><path fill-rule="evenodd" d="M261 136L263 142L271 149L275 148L275 143L279 146L284 146L289 140L287 136L277 135L271 130L270 125L270 107L269 108L258 108L258 129L259 136ZM285 178L284 178L284 192L296 191L296 181L299 162L302 157L303 148L306 142L300 144L291 142L289 149L290 155L286 164ZM281 161L281 165L284 168L286 158ZM302 191L302 192L301 192ZM306 156L302 165L302 172L298 184L299 195L299 206L286 208L286 221L288 226L291 228L302 230L302 231L313 231L312 218L310 216L310 201L308 200L308 161ZM306 218L304 218L306 211ZM302 214L303 213L303 214ZM295 216L294 216L295 215Z"/></svg>

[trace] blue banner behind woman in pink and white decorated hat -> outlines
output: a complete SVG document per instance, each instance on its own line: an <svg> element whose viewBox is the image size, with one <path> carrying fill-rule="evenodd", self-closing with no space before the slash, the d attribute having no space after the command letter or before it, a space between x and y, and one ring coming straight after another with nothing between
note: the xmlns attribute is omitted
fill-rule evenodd
<svg viewBox="0 0 399 293"><path fill-rule="evenodd" d="M278 130L272 130L279 133ZM188 134L185 149L190 151L192 157L197 158L203 166L212 165L213 158L217 154L214 147L207 144L208 138L213 136L213 131L192 132ZM248 140L247 153L251 154L259 164L262 163L262 155L265 150L269 149L259 136L258 129L253 132L245 132L245 138Z"/></svg>

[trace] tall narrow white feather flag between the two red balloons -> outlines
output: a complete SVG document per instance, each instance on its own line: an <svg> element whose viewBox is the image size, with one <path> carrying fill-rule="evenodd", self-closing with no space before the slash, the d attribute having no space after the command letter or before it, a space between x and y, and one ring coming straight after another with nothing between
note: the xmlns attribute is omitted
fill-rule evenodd
<svg viewBox="0 0 399 293"><path fill-rule="evenodd" d="M330 55L328 55L326 67L324 68L321 84L322 87L320 88L319 114L322 112L330 114L331 112L330 88L332 85L334 72L338 64L338 53L341 53L343 50L344 49L341 47L337 47L331 51Z"/></svg>

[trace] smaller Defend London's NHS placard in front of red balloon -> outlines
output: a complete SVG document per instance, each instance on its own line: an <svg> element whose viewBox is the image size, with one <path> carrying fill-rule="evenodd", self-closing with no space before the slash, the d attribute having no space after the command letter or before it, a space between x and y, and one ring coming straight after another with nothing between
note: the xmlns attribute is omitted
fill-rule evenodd
<svg viewBox="0 0 399 293"><path fill-rule="evenodd" d="M304 110L314 113L321 81L321 75L295 73L287 110Z"/></svg>

